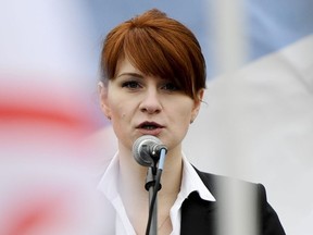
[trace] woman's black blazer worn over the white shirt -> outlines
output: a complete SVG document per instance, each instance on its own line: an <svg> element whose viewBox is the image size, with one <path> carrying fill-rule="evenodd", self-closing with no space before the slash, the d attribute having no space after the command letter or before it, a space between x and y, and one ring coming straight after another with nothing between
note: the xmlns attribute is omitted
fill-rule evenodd
<svg viewBox="0 0 313 235"><path fill-rule="evenodd" d="M189 197L184 201L181 208L181 235L285 235L284 228L279 222L276 212L266 200L266 193L263 185L204 173L200 172L197 169L196 171L204 185L214 196L216 201L202 200L197 191L191 193ZM218 209L225 209L225 205L227 205L227 207L229 206L229 203L226 201L226 196L228 196L228 194L220 190L217 186L218 188L220 186L225 186L226 189L231 186L231 188L235 188L235 194L236 188L238 190L245 189L245 194L249 194L247 196L253 198L250 206L253 206L255 208L255 213L251 214L248 211L245 212L246 207L239 209L240 212L243 213L243 226L245 219L247 220L247 223L251 223L252 217L252 220L256 222L255 224L258 225L258 227L254 234L245 234L243 232L241 233L240 230L239 232L236 230L236 233L229 232L227 223L228 213L220 214L218 212ZM246 201L242 201L242 197L240 196L237 199L234 199L234 201L231 200L231 202L236 205L236 200L239 202L238 205L240 206L246 205ZM249 201L247 201L247 203ZM231 205L230 208L233 208ZM227 209L228 208L226 208L226 211ZM229 213L231 213L231 211L229 211ZM220 219L218 228L217 217Z"/></svg>

